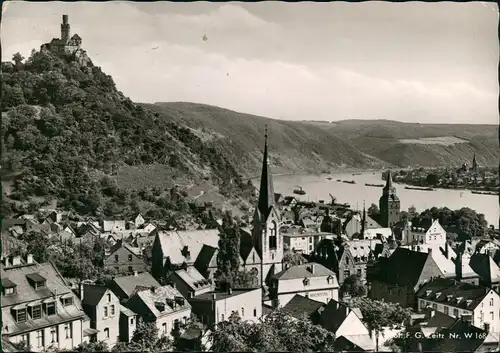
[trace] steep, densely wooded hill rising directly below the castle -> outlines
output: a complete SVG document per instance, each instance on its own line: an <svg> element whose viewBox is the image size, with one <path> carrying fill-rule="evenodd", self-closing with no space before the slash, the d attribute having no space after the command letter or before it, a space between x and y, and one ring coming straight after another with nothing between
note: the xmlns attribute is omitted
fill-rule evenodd
<svg viewBox="0 0 500 353"><path fill-rule="evenodd" d="M2 83L4 211L52 198L80 213L113 215L158 201L137 196L148 194L152 179L156 196L174 183L240 185L218 145L133 103L90 60L16 54L2 63ZM137 192L118 190L113 179L122 174Z"/></svg>

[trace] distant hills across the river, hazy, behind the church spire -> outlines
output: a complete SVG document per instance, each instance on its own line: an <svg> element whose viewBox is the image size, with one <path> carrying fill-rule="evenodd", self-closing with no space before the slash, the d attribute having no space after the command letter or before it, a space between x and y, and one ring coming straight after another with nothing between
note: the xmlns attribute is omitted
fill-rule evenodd
<svg viewBox="0 0 500 353"><path fill-rule="evenodd" d="M409 124L389 120L285 121L196 103L145 107L189 126L230 151L239 171L258 175L264 126L276 172L321 172L346 167L461 166L476 153L483 166L498 164L496 125ZM312 118L312 117L309 117Z"/></svg>

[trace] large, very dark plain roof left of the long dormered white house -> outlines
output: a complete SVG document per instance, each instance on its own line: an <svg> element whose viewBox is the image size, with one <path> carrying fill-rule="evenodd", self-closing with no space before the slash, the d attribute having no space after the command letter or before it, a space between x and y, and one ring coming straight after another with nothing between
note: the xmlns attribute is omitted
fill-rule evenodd
<svg viewBox="0 0 500 353"><path fill-rule="evenodd" d="M378 264L376 280L395 285L410 285L415 287L425 280L425 275L443 275L429 253L397 248L388 258L381 258Z"/></svg>

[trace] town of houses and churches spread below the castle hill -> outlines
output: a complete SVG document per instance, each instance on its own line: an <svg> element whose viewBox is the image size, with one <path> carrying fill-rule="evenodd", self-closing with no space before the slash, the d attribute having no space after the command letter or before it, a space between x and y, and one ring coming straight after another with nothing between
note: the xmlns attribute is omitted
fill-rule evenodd
<svg viewBox="0 0 500 353"><path fill-rule="evenodd" d="M255 279L251 288L216 287L221 220L197 230L180 230L141 214L75 223L68 212L40 210L3 220L4 351L19 342L32 351L72 349L89 341L113 347L131 340L138 320L170 336L191 315L208 328L233 312L257 322L276 307L331 331L339 349L375 351L374 335L360 310L340 291L353 275L365 283L369 298L413 310L404 325L408 332L421 333L415 350L450 349L446 340L430 339L440 332L484 333L473 347L453 346L454 351L499 348L498 242L453 247L438 220L426 229L400 220L390 171L379 200L379 223L364 207L356 211L334 199L314 203L277 194L267 154L266 141L258 202L251 222L240 229L240 260ZM107 285L64 278L52 263L12 253L27 232L61 244L102 239L108 245L104 267L118 275ZM143 255L147 247L152 249L150 269ZM286 253L302 260L287 263ZM168 284L161 285L166 274Z"/></svg>

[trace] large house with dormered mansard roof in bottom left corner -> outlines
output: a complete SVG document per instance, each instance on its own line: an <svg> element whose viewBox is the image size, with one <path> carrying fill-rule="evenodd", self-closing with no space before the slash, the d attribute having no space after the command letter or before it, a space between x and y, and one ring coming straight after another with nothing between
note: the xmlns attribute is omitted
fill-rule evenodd
<svg viewBox="0 0 500 353"><path fill-rule="evenodd" d="M31 351L72 350L93 333L80 300L50 263L2 263L2 338Z"/></svg>

